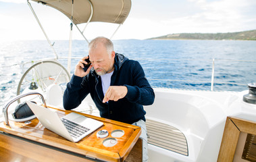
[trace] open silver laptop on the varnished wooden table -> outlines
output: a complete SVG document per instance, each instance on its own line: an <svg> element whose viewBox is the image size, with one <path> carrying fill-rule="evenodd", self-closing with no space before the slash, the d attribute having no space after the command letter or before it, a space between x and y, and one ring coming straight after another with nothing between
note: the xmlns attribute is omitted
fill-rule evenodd
<svg viewBox="0 0 256 162"><path fill-rule="evenodd" d="M69 113L68 115L59 117L56 112L50 109L31 103L30 101L26 101L26 103L45 128L72 142L82 140L82 138L103 126L103 122L78 113Z"/></svg>

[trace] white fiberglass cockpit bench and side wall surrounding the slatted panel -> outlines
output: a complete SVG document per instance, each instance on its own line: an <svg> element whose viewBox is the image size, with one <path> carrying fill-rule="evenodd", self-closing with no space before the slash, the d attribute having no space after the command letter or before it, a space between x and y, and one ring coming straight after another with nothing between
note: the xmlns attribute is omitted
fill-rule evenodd
<svg viewBox="0 0 256 162"><path fill-rule="evenodd" d="M145 107L147 119L178 128L186 137L188 156L149 144L149 161L217 161L226 117L254 116L255 121L256 105L242 101L247 91L154 90L155 103Z"/></svg>

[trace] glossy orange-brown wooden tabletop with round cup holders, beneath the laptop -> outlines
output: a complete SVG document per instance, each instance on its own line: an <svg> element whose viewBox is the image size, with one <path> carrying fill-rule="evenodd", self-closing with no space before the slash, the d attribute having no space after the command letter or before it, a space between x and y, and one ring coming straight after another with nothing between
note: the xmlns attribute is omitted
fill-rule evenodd
<svg viewBox="0 0 256 162"><path fill-rule="evenodd" d="M70 112L74 111L63 111L57 109L57 114L60 117ZM41 142L43 144L61 148L66 151L94 157L104 161L123 161L126 159L126 157L128 157L128 154L140 136L141 132L139 127L113 121L110 119L95 117L93 115L83 113L79 114L102 121L104 125L77 143L70 142L65 138L55 134L54 132L47 130L47 128L43 127L38 119L33 119L30 124L25 124L24 122L9 121L10 126L5 126L5 124L1 122L0 130L9 134L14 134L16 136L26 138L28 140ZM118 140L118 144L115 146L105 147L102 144L105 138L97 138L96 136L99 130L108 130L108 137L111 137L111 132L113 130L124 130L125 134L120 138L116 138Z"/></svg>

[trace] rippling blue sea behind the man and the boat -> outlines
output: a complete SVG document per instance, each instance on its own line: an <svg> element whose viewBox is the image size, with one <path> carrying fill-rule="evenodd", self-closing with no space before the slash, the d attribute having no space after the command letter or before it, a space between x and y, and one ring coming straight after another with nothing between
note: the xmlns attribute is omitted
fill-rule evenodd
<svg viewBox="0 0 256 162"><path fill-rule="evenodd" d="M69 41L53 41L59 57L68 57ZM256 41L118 40L116 53L139 61L152 87L186 90L242 91L256 82ZM85 41L72 41L71 75ZM47 41L3 41L0 45L0 107L16 96L24 63L53 58ZM67 68L67 59L58 59ZM213 77L212 77L213 74Z"/></svg>

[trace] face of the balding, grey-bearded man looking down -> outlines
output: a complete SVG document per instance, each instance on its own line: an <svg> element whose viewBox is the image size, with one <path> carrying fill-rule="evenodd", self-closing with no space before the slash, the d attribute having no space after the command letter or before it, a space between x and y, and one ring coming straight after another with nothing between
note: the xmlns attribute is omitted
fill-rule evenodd
<svg viewBox="0 0 256 162"><path fill-rule="evenodd" d="M97 45L95 49L90 49L89 57L95 72L99 76L113 71L115 53L112 52L111 57L109 57L107 49L102 44Z"/></svg>

